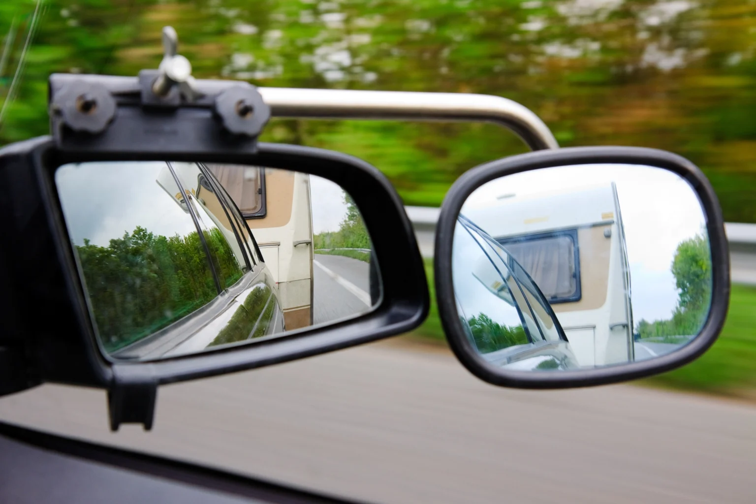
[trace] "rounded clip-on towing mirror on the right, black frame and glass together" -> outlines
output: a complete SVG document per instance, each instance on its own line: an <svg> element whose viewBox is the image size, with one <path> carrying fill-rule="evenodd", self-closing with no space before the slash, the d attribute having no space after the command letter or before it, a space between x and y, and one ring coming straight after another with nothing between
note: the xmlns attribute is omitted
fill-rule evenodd
<svg viewBox="0 0 756 504"><path fill-rule="evenodd" d="M664 151L579 147L481 165L451 187L435 240L449 344L494 385L662 373L706 351L727 314L714 190Z"/></svg>

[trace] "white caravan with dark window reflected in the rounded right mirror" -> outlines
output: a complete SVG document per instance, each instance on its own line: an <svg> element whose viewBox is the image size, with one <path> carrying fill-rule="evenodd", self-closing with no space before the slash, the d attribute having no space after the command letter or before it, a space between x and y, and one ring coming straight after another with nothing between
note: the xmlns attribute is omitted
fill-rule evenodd
<svg viewBox="0 0 756 504"><path fill-rule="evenodd" d="M464 209L548 298L581 366L634 359L630 270L615 184L501 195Z"/></svg>

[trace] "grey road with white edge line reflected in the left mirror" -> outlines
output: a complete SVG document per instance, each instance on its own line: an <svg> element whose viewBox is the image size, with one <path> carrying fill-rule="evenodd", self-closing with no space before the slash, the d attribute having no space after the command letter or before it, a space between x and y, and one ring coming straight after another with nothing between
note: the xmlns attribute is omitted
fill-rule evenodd
<svg viewBox="0 0 756 504"><path fill-rule="evenodd" d="M341 255L315 254L314 323L352 317L370 309L370 264Z"/></svg>

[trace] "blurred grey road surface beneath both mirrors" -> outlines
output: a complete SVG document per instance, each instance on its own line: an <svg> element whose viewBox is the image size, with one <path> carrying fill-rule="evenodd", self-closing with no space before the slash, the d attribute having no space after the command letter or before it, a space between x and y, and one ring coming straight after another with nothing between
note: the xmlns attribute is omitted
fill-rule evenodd
<svg viewBox="0 0 756 504"><path fill-rule="evenodd" d="M0 418L370 502L756 502L756 407L495 388L396 341L163 387L150 433L60 385Z"/></svg>

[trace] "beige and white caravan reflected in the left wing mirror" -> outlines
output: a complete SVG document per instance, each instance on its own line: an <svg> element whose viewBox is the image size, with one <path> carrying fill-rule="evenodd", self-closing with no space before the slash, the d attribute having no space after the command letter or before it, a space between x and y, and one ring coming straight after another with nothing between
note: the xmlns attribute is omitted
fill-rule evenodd
<svg viewBox="0 0 756 504"><path fill-rule="evenodd" d="M309 175L208 165L237 203L278 284L286 329L312 324L312 210Z"/></svg>

